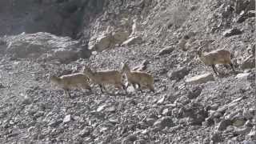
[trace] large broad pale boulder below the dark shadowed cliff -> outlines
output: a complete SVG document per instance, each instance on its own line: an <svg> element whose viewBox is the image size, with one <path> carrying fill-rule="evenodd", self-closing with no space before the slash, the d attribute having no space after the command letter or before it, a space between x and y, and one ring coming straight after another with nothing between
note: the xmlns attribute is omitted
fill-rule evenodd
<svg viewBox="0 0 256 144"><path fill-rule="evenodd" d="M11 58L34 58L44 61L58 60L59 62L90 57L90 50L82 48L78 41L42 32L23 33L6 38L5 53Z"/></svg>

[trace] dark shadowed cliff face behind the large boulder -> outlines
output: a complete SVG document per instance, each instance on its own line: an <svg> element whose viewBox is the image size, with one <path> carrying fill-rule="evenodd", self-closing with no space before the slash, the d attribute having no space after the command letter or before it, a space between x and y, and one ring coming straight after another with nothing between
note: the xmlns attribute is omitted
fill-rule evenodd
<svg viewBox="0 0 256 144"><path fill-rule="evenodd" d="M102 13L100 0L1 1L0 35L48 32L78 38L83 25Z"/></svg>

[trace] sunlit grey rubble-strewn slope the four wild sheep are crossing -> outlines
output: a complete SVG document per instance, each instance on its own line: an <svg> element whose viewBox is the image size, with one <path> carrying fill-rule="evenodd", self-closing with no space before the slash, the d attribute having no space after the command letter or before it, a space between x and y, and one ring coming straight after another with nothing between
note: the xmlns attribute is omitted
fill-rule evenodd
<svg viewBox="0 0 256 144"><path fill-rule="evenodd" d="M0 26L16 27L0 30L1 143L256 143L255 1L13 2L0 5ZM37 6L49 13L31 24ZM198 47L230 50L236 72L214 74ZM154 94L94 86L66 98L49 82L125 61L154 75Z"/></svg>

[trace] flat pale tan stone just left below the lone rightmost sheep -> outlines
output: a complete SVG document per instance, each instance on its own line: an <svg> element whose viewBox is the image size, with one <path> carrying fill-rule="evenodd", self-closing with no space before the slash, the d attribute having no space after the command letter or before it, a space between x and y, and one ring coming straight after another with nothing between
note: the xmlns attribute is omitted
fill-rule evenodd
<svg viewBox="0 0 256 144"><path fill-rule="evenodd" d="M201 74L201 75L197 75L192 78L186 79L186 82L188 84L201 84L209 81L214 81L214 75L211 73Z"/></svg>

